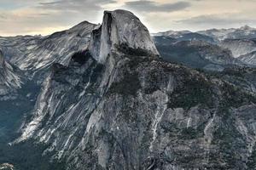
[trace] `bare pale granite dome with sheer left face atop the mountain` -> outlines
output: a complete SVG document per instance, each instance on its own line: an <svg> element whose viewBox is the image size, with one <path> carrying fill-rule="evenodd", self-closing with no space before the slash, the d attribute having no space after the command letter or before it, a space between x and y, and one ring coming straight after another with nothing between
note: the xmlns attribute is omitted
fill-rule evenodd
<svg viewBox="0 0 256 170"><path fill-rule="evenodd" d="M159 55L148 29L134 14L125 10L105 11L102 26L92 33L90 53L104 63L110 51L117 51L121 45Z"/></svg>

